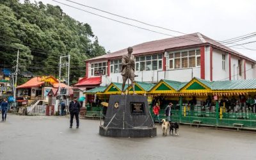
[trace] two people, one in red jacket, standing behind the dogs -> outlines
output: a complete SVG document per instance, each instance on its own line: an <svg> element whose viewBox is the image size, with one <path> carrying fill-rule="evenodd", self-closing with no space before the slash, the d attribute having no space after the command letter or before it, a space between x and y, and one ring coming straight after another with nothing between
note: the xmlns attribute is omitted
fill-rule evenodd
<svg viewBox="0 0 256 160"><path fill-rule="evenodd" d="M173 106L173 104L172 104L172 102L170 102L168 104L168 106L166 106L166 108L164 109L165 110L165 116L166 116L168 122L171 122L172 106ZM155 120L157 118L157 120L158 120L158 122L160 124L161 121L160 121L160 118L159 118L159 111L160 111L160 106L159 106L159 104L157 102L156 105L153 107L153 113L154 113L154 119L153 120L155 122Z"/></svg>

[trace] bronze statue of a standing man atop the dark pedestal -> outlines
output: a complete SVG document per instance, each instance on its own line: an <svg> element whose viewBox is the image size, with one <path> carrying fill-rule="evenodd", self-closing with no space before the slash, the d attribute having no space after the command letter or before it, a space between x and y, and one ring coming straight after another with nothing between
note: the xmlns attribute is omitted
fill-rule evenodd
<svg viewBox="0 0 256 160"><path fill-rule="evenodd" d="M127 79L131 80L133 94L135 94L134 89L134 77L135 77L135 58L132 55L132 47L128 47L128 53L122 56L122 76L123 76L123 84L122 84L122 95L124 95L124 87Z"/></svg>

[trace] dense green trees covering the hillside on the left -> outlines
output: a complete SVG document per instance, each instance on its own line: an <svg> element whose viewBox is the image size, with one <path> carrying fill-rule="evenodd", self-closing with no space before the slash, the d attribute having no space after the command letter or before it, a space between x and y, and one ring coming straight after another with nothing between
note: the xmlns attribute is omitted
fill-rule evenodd
<svg viewBox="0 0 256 160"><path fill-rule="evenodd" d="M26 71L58 77L60 56L70 54L70 83L74 84L85 75L84 60L106 54L90 25L72 19L60 6L1 0L0 68L16 64L18 49L19 83L24 82Z"/></svg>

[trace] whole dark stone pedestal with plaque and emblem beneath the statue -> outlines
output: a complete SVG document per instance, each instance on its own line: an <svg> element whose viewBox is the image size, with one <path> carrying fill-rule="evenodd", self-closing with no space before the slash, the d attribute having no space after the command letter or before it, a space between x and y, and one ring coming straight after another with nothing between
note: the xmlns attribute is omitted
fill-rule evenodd
<svg viewBox="0 0 256 160"><path fill-rule="evenodd" d="M104 125L100 126L99 134L111 137L156 136L147 97L111 95Z"/></svg>

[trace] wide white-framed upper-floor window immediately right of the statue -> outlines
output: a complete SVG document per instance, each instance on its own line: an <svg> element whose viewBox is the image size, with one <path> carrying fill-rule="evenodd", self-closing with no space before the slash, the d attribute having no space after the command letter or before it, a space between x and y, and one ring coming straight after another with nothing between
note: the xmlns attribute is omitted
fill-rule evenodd
<svg viewBox="0 0 256 160"><path fill-rule="evenodd" d="M163 54L154 54L148 56L138 56L136 60L136 70L160 70L163 68Z"/></svg>

